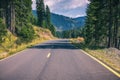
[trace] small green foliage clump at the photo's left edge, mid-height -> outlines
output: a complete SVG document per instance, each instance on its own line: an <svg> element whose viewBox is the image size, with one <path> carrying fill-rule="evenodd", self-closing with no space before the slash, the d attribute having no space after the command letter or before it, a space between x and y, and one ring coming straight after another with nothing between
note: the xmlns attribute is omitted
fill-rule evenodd
<svg viewBox="0 0 120 80"><path fill-rule="evenodd" d="M3 24L2 19L0 18L0 43L3 42L3 37L6 35L7 29L5 24Z"/></svg>

